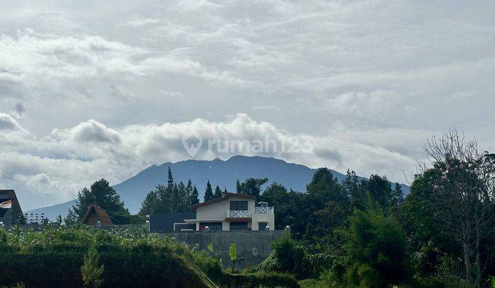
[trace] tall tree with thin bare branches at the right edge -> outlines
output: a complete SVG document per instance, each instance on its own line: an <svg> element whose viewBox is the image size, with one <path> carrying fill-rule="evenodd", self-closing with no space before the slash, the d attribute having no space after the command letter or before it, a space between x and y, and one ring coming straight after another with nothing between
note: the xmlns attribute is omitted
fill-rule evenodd
<svg viewBox="0 0 495 288"><path fill-rule="evenodd" d="M466 281L478 286L487 259L485 240L494 233L495 155L481 152L476 141L456 130L433 136L426 154L439 173L432 183L435 219L460 241Z"/></svg>

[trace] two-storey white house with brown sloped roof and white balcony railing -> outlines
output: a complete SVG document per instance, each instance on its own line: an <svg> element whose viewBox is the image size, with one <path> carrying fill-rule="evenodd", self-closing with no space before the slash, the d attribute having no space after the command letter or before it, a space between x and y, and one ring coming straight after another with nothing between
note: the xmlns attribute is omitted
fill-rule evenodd
<svg viewBox="0 0 495 288"><path fill-rule="evenodd" d="M274 230L274 207L256 206L256 197L222 193L222 197L190 207L195 219L175 223L174 230ZM188 229L180 228L189 226Z"/></svg>

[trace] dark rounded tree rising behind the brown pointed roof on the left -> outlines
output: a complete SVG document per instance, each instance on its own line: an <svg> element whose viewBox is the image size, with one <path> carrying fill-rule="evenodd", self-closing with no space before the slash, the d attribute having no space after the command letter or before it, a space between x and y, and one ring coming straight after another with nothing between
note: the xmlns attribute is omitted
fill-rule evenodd
<svg viewBox="0 0 495 288"><path fill-rule="evenodd" d="M124 202L120 200L120 195L110 186L107 180L98 180L91 184L90 189L85 187L78 192L76 205L72 206L74 214L71 217L76 217L80 221L92 204L107 211L113 224L129 224L131 221L129 210L124 207Z"/></svg>

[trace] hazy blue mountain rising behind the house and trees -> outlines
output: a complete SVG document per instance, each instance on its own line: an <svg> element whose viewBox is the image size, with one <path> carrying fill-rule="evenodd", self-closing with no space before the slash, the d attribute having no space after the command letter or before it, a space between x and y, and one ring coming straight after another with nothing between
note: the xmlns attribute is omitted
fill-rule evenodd
<svg viewBox="0 0 495 288"><path fill-rule="evenodd" d="M316 169L304 165L261 156L233 156L228 160L219 158L214 160L184 160L177 163L168 162L159 166L152 165L137 173L136 176L113 187L131 213L135 214L139 211L144 197L149 191L155 189L157 184L166 183L168 167L172 169L175 182L186 183L190 179L196 185L201 201L208 180L210 180L213 188L219 185L222 190L226 187L228 191L236 191L236 180L242 182L250 177L266 177L269 179L268 184L273 181L279 182L287 189L304 192L306 191L306 184L311 181L311 177L316 171ZM344 179L344 174L331 171L339 181ZM404 193L409 191L409 187L405 185L402 185L402 189ZM28 212L43 212L50 218L56 217L58 214L64 216L72 204L74 204L74 200Z"/></svg>

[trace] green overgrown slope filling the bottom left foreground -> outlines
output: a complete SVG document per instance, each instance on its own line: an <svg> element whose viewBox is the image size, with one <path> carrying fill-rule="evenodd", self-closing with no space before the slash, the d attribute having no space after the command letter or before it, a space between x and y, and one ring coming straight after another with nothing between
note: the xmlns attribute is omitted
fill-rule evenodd
<svg viewBox="0 0 495 288"><path fill-rule="evenodd" d="M0 287L297 287L286 274L225 272L204 251L132 228L0 229L0 265Z"/></svg>

